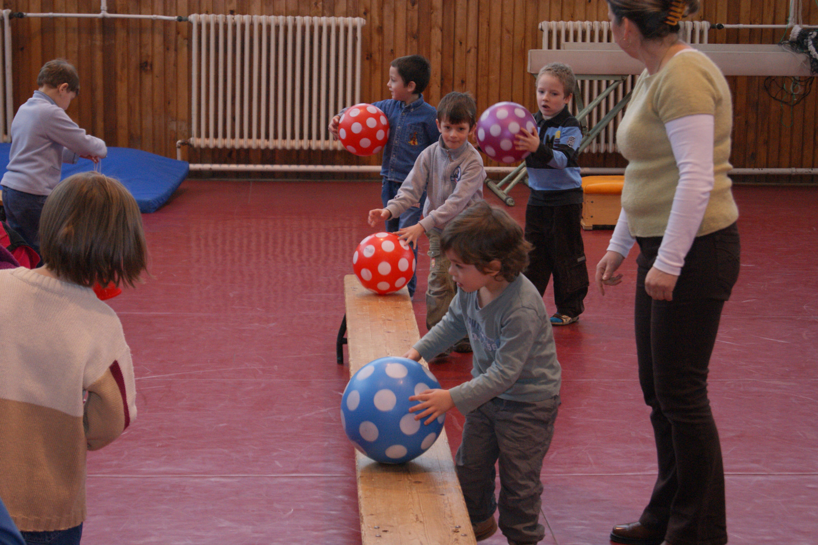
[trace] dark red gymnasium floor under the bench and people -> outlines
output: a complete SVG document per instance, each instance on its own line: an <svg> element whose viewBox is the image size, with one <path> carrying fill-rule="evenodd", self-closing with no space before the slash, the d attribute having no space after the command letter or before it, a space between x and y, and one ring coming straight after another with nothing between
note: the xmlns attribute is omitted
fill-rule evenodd
<svg viewBox="0 0 818 545"><path fill-rule="evenodd" d="M526 191L513 192L520 221ZM737 187L735 196L742 273L710 382L730 543L813 545L818 189ZM139 413L123 438L89 453L83 543L360 543L335 334L342 277L379 200L376 182L187 181L143 216L153 276L111 301L133 349ZM609 232L584 236L592 268ZM542 543L608 543L653 482L631 334L633 255L624 272L605 298L591 291L578 324L555 331L563 406L542 471ZM455 385L470 355L433 371ZM461 423L447 419L452 448Z"/></svg>

